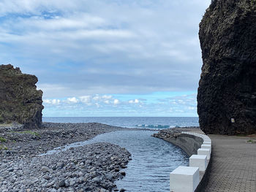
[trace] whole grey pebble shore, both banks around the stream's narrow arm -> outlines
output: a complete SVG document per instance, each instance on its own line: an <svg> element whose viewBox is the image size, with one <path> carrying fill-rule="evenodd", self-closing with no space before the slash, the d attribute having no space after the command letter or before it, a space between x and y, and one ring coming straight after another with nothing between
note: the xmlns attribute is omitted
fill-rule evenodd
<svg viewBox="0 0 256 192"><path fill-rule="evenodd" d="M130 159L124 148L96 143L52 155L39 154L120 130L127 128L100 123L44 123L33 130L1 126L0 191L119 191L114 182L125 176L121 169Z"/></svg>

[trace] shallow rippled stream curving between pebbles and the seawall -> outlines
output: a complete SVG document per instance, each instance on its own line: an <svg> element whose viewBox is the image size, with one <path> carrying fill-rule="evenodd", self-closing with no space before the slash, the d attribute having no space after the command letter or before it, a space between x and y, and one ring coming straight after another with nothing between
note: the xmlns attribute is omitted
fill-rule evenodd
<svg viewBox="0 0 256 192"><path fill-rule="evenodd" d="M94 142L110 142L125 147L132 154L126 176L116 182L117 187L127 191L170 191L170 172L177 166L187 166L189 158L179 147L165 142L162 139L151 137L155 131L114 131L100 134L94 139L77 142L56 150L48 151L48 154L65 150L69 147L88 145Z"/></svg>

